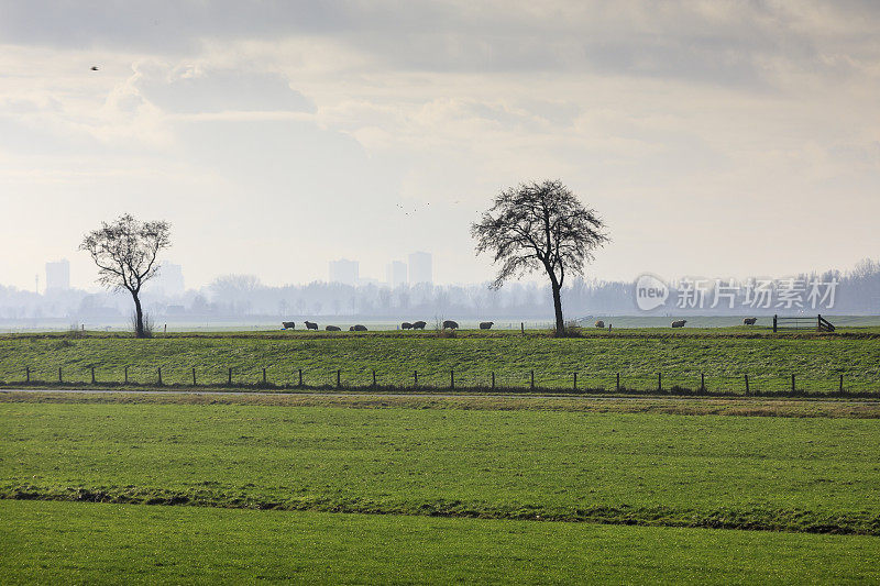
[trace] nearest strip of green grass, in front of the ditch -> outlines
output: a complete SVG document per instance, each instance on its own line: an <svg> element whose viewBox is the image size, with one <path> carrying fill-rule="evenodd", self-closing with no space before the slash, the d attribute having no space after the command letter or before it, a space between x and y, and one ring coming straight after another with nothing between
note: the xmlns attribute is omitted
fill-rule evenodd
<svg viewBox="0 0 880 586"><path fill-rule="evenodd" d="M856 584L878 539L0 501L4 584Z"/></svg>

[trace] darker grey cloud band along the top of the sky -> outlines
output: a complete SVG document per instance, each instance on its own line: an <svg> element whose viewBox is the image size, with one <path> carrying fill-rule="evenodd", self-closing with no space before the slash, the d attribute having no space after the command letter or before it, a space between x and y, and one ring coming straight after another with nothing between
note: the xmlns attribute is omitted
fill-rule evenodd
<svg viewBox="0 0 880 586"><path fill-rule="evenodd" d="M9 1L7 43L193 54L215 38L314 35L378 67L426 71L594 71L763 85L773 60L807 70L880 54L876 2ZM842 26L842 22L858 23ZM832 58L831 57L846 57Z"/></svg>

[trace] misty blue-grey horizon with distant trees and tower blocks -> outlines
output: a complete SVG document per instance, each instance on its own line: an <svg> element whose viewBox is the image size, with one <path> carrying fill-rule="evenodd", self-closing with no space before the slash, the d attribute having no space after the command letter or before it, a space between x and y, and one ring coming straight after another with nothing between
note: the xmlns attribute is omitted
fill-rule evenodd
<svg viewBox="0 0 880 586"><path fill-rule="evenodd" d="M415 259L424 263L424 258L418 256ZM351 272L351 263L355 265L354 273ZM406 263L398 264L407 268ZM393 267L394 263L389 264L387 283L373 278L358 283L360 277L356 262L344 261L342 266L331 263L329 276L355 281L346 284L316 280L305 285L272 286L262 283L255 275L239 274L217 277L207 286L187 288L183 267L166 263L158 276L145 286L142 300L154 325L160 330L165 324L170 328L256 325L276 329L280 327L280 321L288 320L297 321L297 328L301 329L302 319L319 321L321 327L328 320L337 320L340 324L365 321L378 328L393 329L400 321L425 320L433 324L437 319L455 319L462 320L463 325L464 322L471 322L471 327L475 321L497 320L497 328L519 328L524 321L527 327L535 327L544 325L552 319L549 286L514 283L505 285L501 290L493 290L488 287L488 281L471 285L409 283L406 274L395 274ZM0 330L130 327L132 306L128 291L70 287L66 270L69 270L67 263L47 263L46 288L42 292L0 285ZM421 273L416 278L429 279L430 272ZM836 279L838 286L834 308L815 310L804 307L785 310L771 306L746 309L737 302L733 309L722 303L713 309L707 305L706 308L675 308L670 311L666 307L644 312L636 306L632 281L574 278L563 288L563 309L566 320L583 319L586 325L592 324L592 318L636 317L631 320L618 320L618 327L667 324L668 320L651 318L670 314L741 317L773 313L815 316L820 311L836 316L878 313L878 261L864 259L847 270L790 275L788 278L825 283ZM671 283L673 299L676 295L676 281L678 279ZM864 320L858 322L867 323ZM712 323L707 322L706 325L708 324Z"/></svg>

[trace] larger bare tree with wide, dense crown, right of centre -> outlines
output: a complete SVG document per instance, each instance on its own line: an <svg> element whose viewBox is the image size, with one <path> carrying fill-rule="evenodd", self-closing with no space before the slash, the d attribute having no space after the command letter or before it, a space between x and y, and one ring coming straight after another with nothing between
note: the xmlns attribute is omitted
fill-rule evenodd
<svg viewBox="0 0 880 586"><path fill-rule="evenodd" d="M521 184L498 196L480 222L471 224L477 254L502 263L492 287L532 270L547 272L553 291L557 334L563 334L562 284L565 273L583 275L584 263L608 236L604 222L560 181Z"/></svg>

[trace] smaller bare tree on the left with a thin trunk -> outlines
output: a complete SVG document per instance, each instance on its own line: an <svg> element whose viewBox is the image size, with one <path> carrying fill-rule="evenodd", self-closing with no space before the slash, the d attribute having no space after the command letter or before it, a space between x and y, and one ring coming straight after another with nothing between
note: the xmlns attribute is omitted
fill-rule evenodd
<svg viewBox="0 0 880 586"><path fill-rule="evenodd" d="M134 334L145 338L141 288L158 273L156 256L172 245L168 222L139 222L129 214L86 234L80 251L98 265L98 283L128 290L134 299Z"/></svg>

